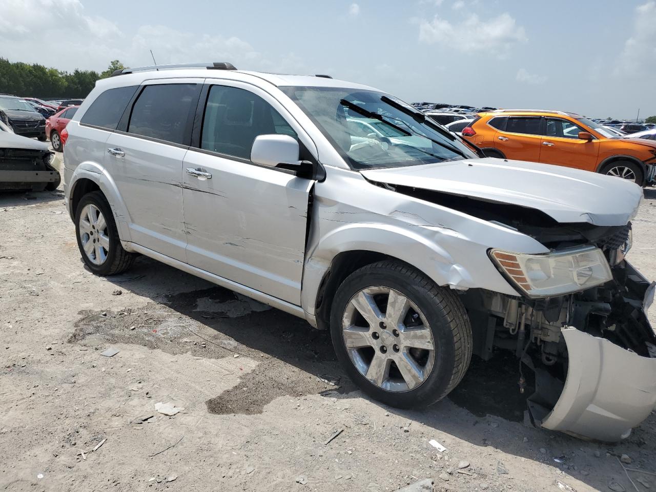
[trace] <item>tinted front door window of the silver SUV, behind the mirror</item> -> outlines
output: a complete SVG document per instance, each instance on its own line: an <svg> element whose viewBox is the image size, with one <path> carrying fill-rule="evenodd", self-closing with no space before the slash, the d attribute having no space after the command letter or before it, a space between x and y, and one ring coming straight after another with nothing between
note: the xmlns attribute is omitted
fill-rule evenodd
<svg viewBox="0 0 656 492"><path fill-rule="evenodd" d="M201 148L250 159L255 137L272 133L297 137L280 113L260 96L235 87L212 86L203 117Z"/></svg>

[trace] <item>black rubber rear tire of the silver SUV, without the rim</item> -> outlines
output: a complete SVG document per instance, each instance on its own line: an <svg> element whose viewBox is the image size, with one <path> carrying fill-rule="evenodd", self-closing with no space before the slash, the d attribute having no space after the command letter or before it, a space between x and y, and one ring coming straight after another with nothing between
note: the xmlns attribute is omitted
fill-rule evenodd
<svg viewBox="0 0 656 492"><path fill-rule="evenodd" d="M100 210L100 212L102 212L107 224L109 249L106 260L100 265L94 264L89 259L87 253L84 251L82 239L80 237L80 216L82 215L83 209L89 204L94 205ZM87 268L89 268L94 274L100 276L121 274L132 266L136 255L128 253L123 249L116 228L116 222L112 214L112 209L102 192L91 192L80 199L79 204L77 205L77 210L75 211L75 236L77 237L77 247L82 255L82 260L87 265Z"/></svg>

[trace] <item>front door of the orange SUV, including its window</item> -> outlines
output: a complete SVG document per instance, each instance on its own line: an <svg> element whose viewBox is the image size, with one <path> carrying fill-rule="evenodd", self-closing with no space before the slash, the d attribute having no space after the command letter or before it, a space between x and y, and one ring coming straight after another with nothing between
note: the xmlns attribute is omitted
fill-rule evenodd
<svg viewBox="0 0 656 492"><path fill-rule="evenodd" d="M564 118L546 117L540 162L596 171L599 140L581 140L589 130Z"/></svg>

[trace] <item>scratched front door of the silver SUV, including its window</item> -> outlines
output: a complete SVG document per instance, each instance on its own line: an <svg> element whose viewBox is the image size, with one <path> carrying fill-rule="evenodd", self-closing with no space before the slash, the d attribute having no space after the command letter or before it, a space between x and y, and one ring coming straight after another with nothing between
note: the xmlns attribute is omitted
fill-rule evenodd
<svg viewBox="0 0 656 492"><path fill-rule="evenodd" d="M314 181L255 165L250 157L256 136L299 138L302 130L290 125L291 117L270 94L244 83L225 83L230 85L209 87L198 148L184 157L188 262L300 305Z"/></svg>

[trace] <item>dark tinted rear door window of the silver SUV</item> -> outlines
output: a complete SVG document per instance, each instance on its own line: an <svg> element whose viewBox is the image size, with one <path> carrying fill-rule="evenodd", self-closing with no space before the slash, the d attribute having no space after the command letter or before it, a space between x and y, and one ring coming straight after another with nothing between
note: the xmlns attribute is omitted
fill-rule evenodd
<svg viewBox="0 0 656 492"><path fill-rule="evenodd" d="M196 84L146 85L134 103L128 133L188 144L197 94Z"/></svg>

